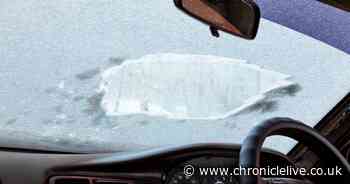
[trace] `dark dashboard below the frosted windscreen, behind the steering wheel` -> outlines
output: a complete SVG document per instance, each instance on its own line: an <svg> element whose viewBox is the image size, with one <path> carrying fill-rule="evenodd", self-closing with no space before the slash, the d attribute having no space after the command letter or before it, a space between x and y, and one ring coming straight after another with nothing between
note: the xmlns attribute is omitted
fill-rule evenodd
<svg viewBox="0 0 350 184"><path fill-rule="evenodd" d="M195 175L184 167L238 167L240 147L234 144L196 144L133 153L50 154L0 152L2 184L147 184L238 183L236 177ZM262 166L291 166L284 155L262 153Z"/></svg>

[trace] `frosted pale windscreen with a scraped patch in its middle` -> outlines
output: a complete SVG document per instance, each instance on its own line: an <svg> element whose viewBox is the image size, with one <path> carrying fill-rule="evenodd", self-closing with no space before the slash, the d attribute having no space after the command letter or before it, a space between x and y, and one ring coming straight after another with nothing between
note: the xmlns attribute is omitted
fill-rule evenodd
<svg viewBox="0 0 350 184"><path fill-rule="evenodd" d="M350 91L347 53L266 19L217 39L170 0L3 2L0 35L2 147L241 143L272 117L314 126Z"/></svg>

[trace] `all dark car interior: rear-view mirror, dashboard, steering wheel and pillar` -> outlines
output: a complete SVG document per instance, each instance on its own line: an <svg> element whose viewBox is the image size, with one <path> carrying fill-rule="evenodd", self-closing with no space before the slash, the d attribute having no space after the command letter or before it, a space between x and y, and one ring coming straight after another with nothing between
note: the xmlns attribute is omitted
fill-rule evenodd
<svg viewBox="0 0 350 184"><path fill-rule="evenodd" d="M348 1L322 2L349 11ZM251 0L174 0L187 15L219 31L254 41L260 11ZM229 8L228 8L229 7ZM232 13L233 12L233 13ZM209 35L208 35L209 37ZM220 38L219 38L220 39ZM263 147L270 136L298 143L287 154ZM134 152L84 154L0 148L0 184L323 184L350 181L350 93L315 127L288 117L258 122L242 144L203 143ZM341 176L184 175L184 168L340 167Z"/></svg>

